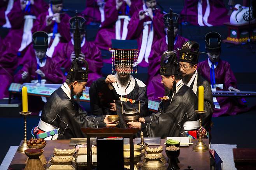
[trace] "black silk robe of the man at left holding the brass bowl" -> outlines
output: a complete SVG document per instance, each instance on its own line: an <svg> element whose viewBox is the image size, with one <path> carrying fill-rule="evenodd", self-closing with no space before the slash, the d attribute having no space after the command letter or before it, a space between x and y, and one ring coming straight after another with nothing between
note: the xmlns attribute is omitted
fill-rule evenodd
<svg viewBox="0 0 256 170"><path fill-rule="evenodd" d="M105 116L87 116L87 112L58 88L51 94L42 111L41 120L60 128L58 139L84 138L81 128L106 127Z"/></svg>

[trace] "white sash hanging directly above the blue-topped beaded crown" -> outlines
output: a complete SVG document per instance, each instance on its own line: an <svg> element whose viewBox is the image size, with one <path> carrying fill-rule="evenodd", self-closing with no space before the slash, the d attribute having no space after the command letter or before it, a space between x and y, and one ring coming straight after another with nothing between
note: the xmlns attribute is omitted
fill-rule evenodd
<svg viewBox="0 0 256 170"><path fill-rule="evenodd" d="M123 33L121 36L121 19L124 19L124 24L123 24ZM125 40L127 33L128 33L128 24L130 21L129 16L118 16L118 19L116 21L116 40Z"/></svg>

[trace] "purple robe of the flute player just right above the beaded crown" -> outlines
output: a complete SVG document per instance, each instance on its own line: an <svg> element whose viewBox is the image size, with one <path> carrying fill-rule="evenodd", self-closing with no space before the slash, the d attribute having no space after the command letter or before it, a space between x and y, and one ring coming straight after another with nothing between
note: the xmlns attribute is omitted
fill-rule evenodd
<svg viewBox="0 0 256 170"><path fill-rule="evenodd" d="M127 39L136 39L138 42L138 49L140 49L142 45L142 35L143 35L143 30L144 30L144 22L147 21L152 21L151 24L153 24L153 43L151 46L151 52L149 54L149 59L153 57L153 45L160 40L161 38L165 37L165 32L164 32L164 23L163 23L163 14L159 9L156 9L154 11L154 17L153 20L149 17L146 16L144 19L140 21L139 19L139 10L143 10L143 7L140 7L140 9L135 12L131 18L131 21L128 25L128 35ZM151 30L151 24L148 25L148 34ZM159 48L159 47L157 47ZM139 55L139 54L138 54ZM149 63L147 63L144 59L142 62L140 62L139 66L142 67L147 67L149 66Z"/></svg>

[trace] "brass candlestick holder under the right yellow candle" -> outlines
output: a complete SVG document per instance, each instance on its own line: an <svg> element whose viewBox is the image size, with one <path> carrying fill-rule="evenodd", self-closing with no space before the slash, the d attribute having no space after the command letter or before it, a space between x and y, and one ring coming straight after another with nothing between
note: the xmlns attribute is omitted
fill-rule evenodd
<svg viewBox="0 0 256 170"><path fill-rule="evenodd" d="M202 139L202 114L206 113L206 111L199 111L199 110L195 110L196 114L199 114L200 116L200 128L199 128L199 139L196 142L196 144L194 144L193 146L193 151L195 152L205 152L209 150L209 147L203 142Z"/></svg>

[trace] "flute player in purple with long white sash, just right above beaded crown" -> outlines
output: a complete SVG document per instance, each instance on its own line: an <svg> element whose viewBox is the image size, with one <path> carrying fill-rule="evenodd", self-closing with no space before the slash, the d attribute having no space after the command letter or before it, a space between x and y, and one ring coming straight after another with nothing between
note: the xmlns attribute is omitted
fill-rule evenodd
<svg viewBox="0 0 256 170"><path fill-rule="evenodd" d="M138 42L139 66L149 66L149 58L153 56L152 45L164 36L163 14L156 8L156 0L143 0L143 6L131 18L127 36L127 39Z"/></svg>

